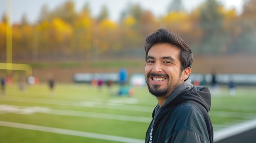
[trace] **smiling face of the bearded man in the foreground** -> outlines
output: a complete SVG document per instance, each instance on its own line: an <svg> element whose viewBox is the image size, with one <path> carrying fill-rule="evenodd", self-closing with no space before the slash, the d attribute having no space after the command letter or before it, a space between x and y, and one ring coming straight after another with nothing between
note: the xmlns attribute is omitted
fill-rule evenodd
<svg viewBox="0 0 256 143"><path fill-rule="evenodd" d="M153 45L148 51L145 78L148 90L156 97L167 97L181 81L180 49L167 43Z"/></svg>

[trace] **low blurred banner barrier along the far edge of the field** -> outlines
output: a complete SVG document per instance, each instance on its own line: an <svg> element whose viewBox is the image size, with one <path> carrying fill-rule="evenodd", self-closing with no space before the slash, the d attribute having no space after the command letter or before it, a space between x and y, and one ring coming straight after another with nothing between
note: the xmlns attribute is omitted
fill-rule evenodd
<svg viewBox="0 0 256 143"><path fill-rule="evenodd" d="M87 82L90 83L92 79L102 79L104 82L109 80L118 82L118 73L76 73L73 76L74 82ZM212 83L211 74L196 74L190 75L189 79L192 82L195 80L200 82L200 85L210 85ZM218 85L228 85L233 82L241 86L256 86L256 74L217 74L216 82ZM135 73L130 76L130 85L144 86L146 84L144 73Z"/></svg>

